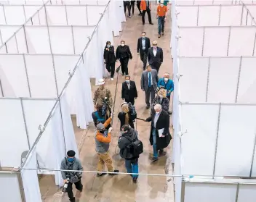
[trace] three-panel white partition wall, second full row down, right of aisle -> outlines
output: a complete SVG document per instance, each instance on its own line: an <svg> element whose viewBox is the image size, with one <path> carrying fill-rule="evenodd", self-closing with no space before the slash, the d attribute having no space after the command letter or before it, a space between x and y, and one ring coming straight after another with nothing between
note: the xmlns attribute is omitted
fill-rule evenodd
<svg viewBox="0 0 256 202"><path fill-rule="evenodd" d="M255 56L255 35L256 28L252 26L180 27L178 54L179 56Z"/></svg>

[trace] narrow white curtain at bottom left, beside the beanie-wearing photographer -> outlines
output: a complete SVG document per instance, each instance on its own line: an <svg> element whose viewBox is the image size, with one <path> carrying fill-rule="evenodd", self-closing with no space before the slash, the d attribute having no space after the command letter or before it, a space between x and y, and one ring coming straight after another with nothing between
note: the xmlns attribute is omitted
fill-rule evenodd
<svg viewBox="0 0 256 202"><path fill-rule="evenodd" d="M31 151L31 155L28 156L24 164L24 168L37 168L36 166L36 151L35 147L33 151ZM39 188L39 178L37 176L36 170L22 169L21 176L23 179L23 188L25 193L25 201L26 202L41 202L41 192Z"/></svg>

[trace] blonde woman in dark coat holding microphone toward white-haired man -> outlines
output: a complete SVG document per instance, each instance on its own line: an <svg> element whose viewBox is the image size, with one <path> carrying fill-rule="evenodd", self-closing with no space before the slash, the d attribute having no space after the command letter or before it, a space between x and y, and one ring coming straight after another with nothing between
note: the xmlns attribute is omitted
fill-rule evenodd
<svg viewBox="0 0 256 202"><path fill-rule="evenodd" d="M120 120L120 131L121 127L123 125L130 125L133 129L135 128L135 125L133 122L137 118L137 114L132 113L132 111L129 109L129 104L127 102L123 102L121 104L121 112L119 112L119 120Z"/></svg>

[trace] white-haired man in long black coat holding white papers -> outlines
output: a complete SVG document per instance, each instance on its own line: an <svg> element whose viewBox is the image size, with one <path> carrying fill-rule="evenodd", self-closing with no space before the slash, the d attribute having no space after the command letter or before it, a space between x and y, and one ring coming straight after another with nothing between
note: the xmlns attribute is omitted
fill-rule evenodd
<svg viewBox="0 0 256 202"><path fill-rule="evenodd" d="M145 122L151 122L149 140L153 146L153 163L159 159L159 155L164 155L164 148L167 148L172 139L169 132L169 114L161 109L161 104L156 104L151 117L145 119Z"/></svg>

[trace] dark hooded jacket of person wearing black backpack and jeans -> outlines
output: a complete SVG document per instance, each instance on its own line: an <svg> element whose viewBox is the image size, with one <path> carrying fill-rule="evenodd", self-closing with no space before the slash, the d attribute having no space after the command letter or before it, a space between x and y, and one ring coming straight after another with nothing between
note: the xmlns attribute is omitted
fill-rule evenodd
<svg viewBox="0 0 256 202"><path fill-rule="evenodd" d="M136 159L139 156L133 156L130 152L129 145L132 143L132 141L137 140L137 131L134 130L132 127L129 128L129 131L122 134L119 138L119 148L120 148L120 156L121 158L130 160L130 159Z"/></svg>

